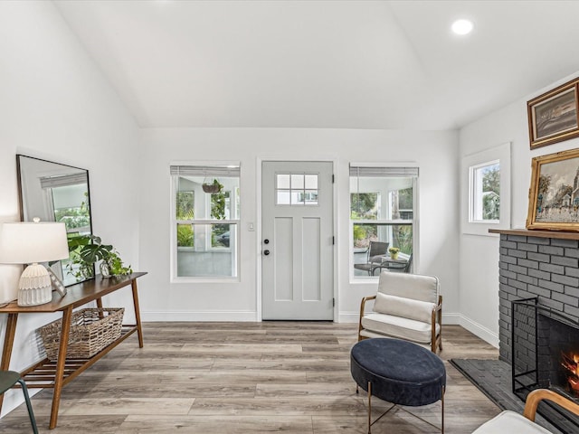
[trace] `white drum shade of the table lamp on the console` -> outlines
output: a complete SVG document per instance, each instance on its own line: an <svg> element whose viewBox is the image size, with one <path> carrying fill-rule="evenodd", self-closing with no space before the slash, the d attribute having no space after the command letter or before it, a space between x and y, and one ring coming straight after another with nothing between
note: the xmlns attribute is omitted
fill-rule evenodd
<svg viewBox="0 0 579 434"><path fill-rule="evenodd" d="M68 257L64 223L5 222L0 228L0 263L32 264Z"/></svg>

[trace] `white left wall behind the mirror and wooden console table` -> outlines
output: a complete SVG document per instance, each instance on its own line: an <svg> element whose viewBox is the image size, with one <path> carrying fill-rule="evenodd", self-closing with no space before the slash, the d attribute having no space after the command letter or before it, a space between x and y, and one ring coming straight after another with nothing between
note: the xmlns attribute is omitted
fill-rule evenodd
<svg viewBox="0 0 579 434"><path fill-rule="evenodd" d="M0 119L0 222L20 220L16 154L87 168L95 233L138 268L138 127L52 2L0 2ZM21 271L0 265L2 299L15 298ZM34 330L51 319L19 318L11 369L36 360ZM6 393L3 413L21 397Z"/></svg>

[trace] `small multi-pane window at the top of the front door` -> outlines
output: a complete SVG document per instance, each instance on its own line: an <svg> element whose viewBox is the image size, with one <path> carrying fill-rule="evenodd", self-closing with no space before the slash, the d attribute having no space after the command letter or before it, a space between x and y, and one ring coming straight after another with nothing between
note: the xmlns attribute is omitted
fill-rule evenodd
<svg viewBox="0 0 579 434"><path fill-rule="evenodd" d="M276 205L317 205L318 174L276 174Z"/></svg>

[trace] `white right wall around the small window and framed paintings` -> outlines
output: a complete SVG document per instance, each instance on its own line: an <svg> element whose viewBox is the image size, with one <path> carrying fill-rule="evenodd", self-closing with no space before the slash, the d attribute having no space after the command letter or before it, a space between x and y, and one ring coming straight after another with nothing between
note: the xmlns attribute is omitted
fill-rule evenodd
<svg viewBox="0 0 579 434"><path fill-rule="evenodd" d="M532 157L579 147L575 138L530 151L527 100L574 77L536 90L460 130L460 158L511 142L511 228L525 229ZM468 206L467 199L460 197L460 207ZM498 241L497 235L460 234L460 324L497 346Z"/></svg>

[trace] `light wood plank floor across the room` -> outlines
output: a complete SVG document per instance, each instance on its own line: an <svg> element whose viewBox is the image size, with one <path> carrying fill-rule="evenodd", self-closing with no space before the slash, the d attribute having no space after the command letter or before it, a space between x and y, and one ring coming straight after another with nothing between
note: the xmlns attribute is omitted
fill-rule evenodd
<svg viewBox="0 0 579 434"><path fill-rule="evenodd" d="M48 429L52 390L36 394L40 432L367 432L365 392L356 395L349 366L356 325L147 323L144 333L144 348L131 336L64 388L56 429ZM443 346L445 431L470 433L499 410L446 361L498 351L456 325L444 326ZM377 417L386 404L373 404ZM440 402L408 410L440 425ZM0 420L0 432L31 432L24 405ZM396 410L372 432L440 431Z"/></svg>

